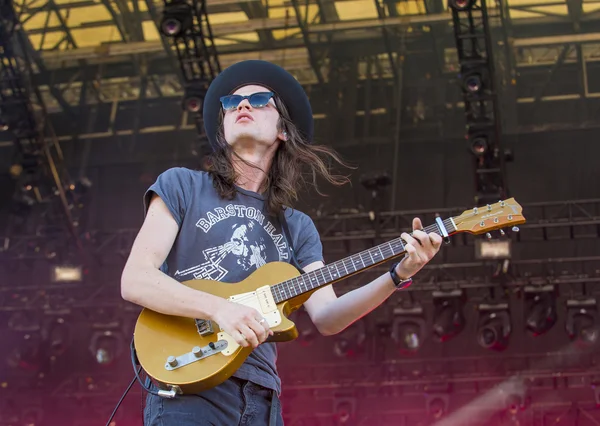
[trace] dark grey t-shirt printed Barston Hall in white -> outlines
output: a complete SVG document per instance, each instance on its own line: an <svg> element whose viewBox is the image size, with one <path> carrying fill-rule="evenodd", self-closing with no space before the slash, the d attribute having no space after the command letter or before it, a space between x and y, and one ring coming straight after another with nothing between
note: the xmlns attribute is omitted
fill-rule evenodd
<svg viewBox="0 0 600 426"><path fill-rule="evenodd" d="M144 214L155 192L165 202L179 233L161 270L177 281L242 281L265 263L291 263L285 233L277 217L268 216L264 198L237 188L233 200L219 197L206 172L182 167L162 173L144 195ZM306 214L285 209L292 246L301 267L323 260L323 247ZM234 374L281 392L275 362L277 348L265 343L252 351Z"/></svg>

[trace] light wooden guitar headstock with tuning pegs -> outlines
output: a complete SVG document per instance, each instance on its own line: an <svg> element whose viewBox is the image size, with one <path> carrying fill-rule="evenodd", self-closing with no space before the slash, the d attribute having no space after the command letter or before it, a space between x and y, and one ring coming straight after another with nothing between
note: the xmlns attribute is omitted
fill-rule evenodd
<svg viewBox="0 0 600 426"><path fill-rule="evenodd" d="M523 207L514 198L465 210L460 216L453 217L457 232L483 234L507 226L525 223Z"/></svg>

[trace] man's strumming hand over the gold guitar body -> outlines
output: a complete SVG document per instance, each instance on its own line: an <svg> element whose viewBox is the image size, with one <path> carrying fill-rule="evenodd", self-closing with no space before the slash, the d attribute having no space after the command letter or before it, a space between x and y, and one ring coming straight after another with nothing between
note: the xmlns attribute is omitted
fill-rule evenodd
<svg viewBox="0 0 600 426"><path fill-rule="evenodd" d="M217 307L212 319L233 337L238 345L252 345L253 348L257 348L273 335L267 320L256 309L229 300L223 302Z"/></svg>

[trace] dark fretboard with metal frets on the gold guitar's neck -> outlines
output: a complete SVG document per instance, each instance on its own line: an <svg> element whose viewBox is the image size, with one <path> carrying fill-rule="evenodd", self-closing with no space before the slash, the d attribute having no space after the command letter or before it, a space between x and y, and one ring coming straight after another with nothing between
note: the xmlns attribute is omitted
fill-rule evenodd
<svg viewBox="0 0 600 426"><path fill-rule="evenodd" d="M451 218L444 220L443 224L448 234L456 232L456 227ZM425 227L423 231L443 235L437 223ZM325 265L315 271L307 272L299 277L275 284L271 286L275 302L284 302L319 287L333 284L394 257L398 257L406 252L405 246L406 241L402 238L396 238L387 243Z"/></svg>

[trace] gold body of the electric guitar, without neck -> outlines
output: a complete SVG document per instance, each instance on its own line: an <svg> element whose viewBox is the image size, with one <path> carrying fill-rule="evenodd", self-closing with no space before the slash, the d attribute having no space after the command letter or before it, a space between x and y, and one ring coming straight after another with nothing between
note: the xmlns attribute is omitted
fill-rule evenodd
<svg viewBox="0 0 600 426"><path fill-rule="evenodd" d="M211 280L190 280L182 284L225 299L233 297L233 301L237 301L236 295L244 295L238 297L238 303L256 308L260 305L257 305L257 299L252 297L253 292L299 275L298 270L288 263L272 262L236 284ZM296 326L287 315L298 309L310 294L305 293L275 305L279 314L271 312L268 316L269 325L274 332L268 342L285 342L298 337ZM279 320L271 320L274 317L279 317ZM165 390L177 386L177 390L184 394L198 393L223 383L244 363L252 348L237 346L228 335L221 335L219 338L219 325L215 322L212 322L212 325L214 332L202 336L192 318L164 315L150 309L142 310L134 331L135 348L140 364L157 385ZM194 347L210 349L211 343L216 344L219 340L223 342L223 339L229 340L229 350L233 350L231 354L225 355L226 351L218 352L184 366L180 362L178 368L169 369L167 360L170 356L189 354Z"/></svg>

